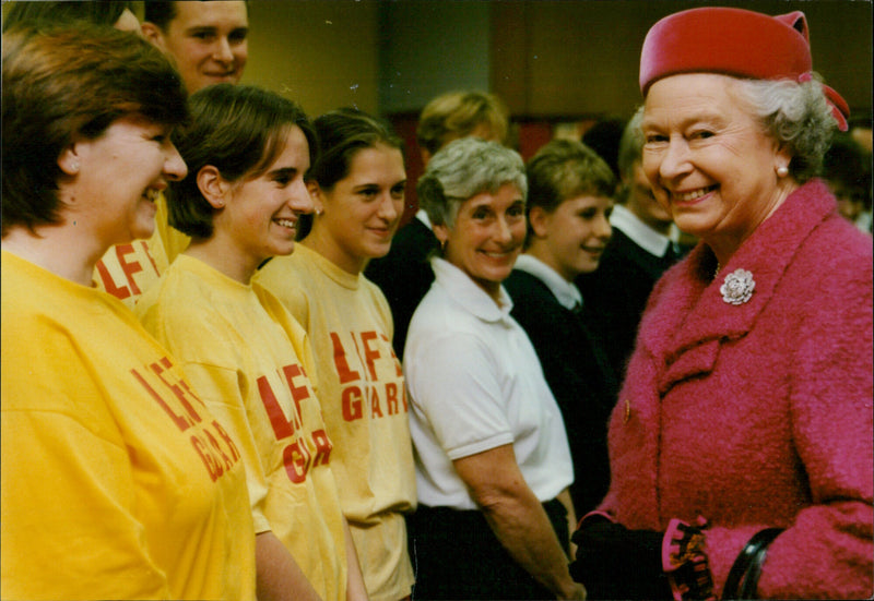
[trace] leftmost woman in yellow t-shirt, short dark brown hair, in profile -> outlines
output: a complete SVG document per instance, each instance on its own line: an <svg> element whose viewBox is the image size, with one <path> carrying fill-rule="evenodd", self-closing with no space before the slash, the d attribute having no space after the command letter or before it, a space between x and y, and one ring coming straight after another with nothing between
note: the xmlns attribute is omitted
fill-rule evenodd
<svg viewBox="0 0 874 601"><path fill-rule="evenodd" d="M141 38L82 23L10 28L2 71L3 597L253 599L237 444L92 284L186 176L181 81Z"/></svg>

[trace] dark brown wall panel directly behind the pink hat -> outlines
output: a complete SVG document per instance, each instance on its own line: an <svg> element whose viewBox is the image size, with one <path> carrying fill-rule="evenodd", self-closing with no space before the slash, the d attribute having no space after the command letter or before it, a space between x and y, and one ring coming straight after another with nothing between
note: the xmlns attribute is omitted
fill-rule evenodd
<svg viewBox="0 0 874 601"><path fill-rule="evenodd" d="M768 14L807 15L814 69L871 111L872 3L853 0L720 2ZM495 2L494 91L515 115L560 118L627 116L641 101L640 47L662 16L700 5L664 0L527 0ZM714 44L719 40L714 39Z"/></svg>

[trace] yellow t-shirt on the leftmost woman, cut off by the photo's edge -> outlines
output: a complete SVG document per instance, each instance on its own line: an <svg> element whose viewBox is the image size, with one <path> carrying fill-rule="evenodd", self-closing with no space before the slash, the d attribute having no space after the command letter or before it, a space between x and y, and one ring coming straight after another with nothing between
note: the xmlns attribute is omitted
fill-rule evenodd
<svg viewBox="0 0 874 601"><path fill-rule="evenodd" d="M3 599L253 599L240 449L110 296L2 252Z"/></svg>

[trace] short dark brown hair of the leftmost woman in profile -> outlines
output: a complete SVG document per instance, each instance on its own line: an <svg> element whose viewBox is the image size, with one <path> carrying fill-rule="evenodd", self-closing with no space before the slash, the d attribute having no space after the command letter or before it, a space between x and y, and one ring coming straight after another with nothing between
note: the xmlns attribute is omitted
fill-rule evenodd
<svg viewBox="0 0 874 601"><path fill-rule="evenodd" d="M3 233L58 221L58 158L75 137L129 115L170 127L188 115L176 70L132 33L20 23L3 34L2 60Z"/></svg>

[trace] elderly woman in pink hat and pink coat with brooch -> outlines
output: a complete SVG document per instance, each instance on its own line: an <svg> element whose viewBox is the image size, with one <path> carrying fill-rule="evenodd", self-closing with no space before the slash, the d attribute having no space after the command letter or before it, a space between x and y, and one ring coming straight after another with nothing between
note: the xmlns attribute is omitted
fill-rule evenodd
<svg viewBox="0 0 874 601"><path fill-rule="evenodd" d="M643 43L643 169L700 243L657 285L571 567L593 599L872 596L872 242L814 176L843 99L804 14Z"/></svg>

